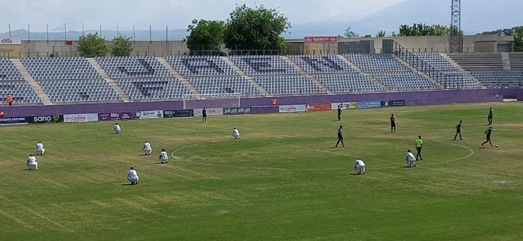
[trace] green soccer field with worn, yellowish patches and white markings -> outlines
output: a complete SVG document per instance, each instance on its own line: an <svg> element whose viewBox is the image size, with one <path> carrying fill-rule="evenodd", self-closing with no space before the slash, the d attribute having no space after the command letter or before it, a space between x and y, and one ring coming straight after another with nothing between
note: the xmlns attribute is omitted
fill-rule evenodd
<svg viewBox="0 0 523 241"><path fill-rule="evenodd" d="M499 148L481 148L491 106ZM523 240L522 110L133 120L119 122L121 134L114 122L0 127L0 239ZM452 141L460 119L464 141ZM347 147L333 148L340 124ZM404 168L418 135L424 160ZM46 153L27 171L38 141ZM162 148L166 165L156 164ZM353 175L356 158L366 175ZM139 185L127 186L131 166Z"/></svg>

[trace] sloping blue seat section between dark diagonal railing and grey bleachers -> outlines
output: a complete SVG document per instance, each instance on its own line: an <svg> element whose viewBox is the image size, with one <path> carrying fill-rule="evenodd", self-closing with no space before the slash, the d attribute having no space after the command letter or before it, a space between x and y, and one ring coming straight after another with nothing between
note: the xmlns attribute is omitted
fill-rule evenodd
<svg viewBox="0 0 523 241"><path fill-rule="evenodd" d="M445 74L457 75L462 78L462 88L480 88L470 77L452 64L444 55L437 52L417 53L417 55L429 64L435 66Z"/></svg>

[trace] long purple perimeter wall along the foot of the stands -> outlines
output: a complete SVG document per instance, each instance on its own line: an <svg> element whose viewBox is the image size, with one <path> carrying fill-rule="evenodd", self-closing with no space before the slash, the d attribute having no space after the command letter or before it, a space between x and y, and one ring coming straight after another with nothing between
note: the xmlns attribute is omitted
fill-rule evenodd
<svg viewBox="0 0 523 241"><path fill-rule="evenodd" d="M499 98L496 97L499 95ZM270 105L273 97L243 98L242 107ZM406 106L440 105L468 102L503 101L503 98L518 98L523 100L523 89L468 89L468 90L435 90L411 91L394 93L347 94L347 95L317 95L317 96L282 96L276 97L278 105L323 104L332 102L405 100ZM232 101L223 100L190 100L190 109L231 107ZM6 117L49 116L53 114L75 113L111 113L143 110L181 110L184 103L181 100L150 101L150 102L119 102L100 104L73 104L48 106L12 106L2 107ZM253 113L267 113L271 109L253 109ZM277 111L273 111L277 112Z"/></svg>

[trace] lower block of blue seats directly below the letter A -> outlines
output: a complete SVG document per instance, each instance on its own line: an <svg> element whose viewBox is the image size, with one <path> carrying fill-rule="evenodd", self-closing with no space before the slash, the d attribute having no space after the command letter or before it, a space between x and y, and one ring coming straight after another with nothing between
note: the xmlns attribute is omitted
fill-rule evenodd
<svg viewBox="0 0 523 241"><path fill-rule="evenodd" d="M189 82L203 95L239 94L258 96L262 93L242 76L189 77Z"/></svg>

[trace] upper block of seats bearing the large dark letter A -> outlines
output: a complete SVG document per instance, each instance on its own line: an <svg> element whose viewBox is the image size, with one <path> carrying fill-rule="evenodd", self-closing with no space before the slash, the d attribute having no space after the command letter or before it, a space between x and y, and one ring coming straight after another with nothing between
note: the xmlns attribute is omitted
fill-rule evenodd
<svg viewBox="0 0 523 241"><path fill-rule="evenodd" d="M220 56L165 56L185 76L238 75Z"/></svg>

